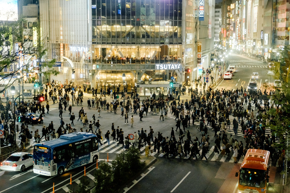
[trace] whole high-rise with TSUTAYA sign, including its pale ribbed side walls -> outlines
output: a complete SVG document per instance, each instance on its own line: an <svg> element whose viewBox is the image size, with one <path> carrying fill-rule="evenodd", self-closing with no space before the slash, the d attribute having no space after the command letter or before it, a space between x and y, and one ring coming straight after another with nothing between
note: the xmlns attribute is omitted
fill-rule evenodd
<svg viewBox="0 0 290 193"><path fill-rule="evenodd" d="M214 1L201 4L193 0L40 0L48 58L63 62L58 67L61 74L54 79L66 83L74 78L76 84L94 88L126 82L128 90L137 80L149 78L194 80L197 41L202 42L203 67L209 66L213 50ZM192 73L185 77L187 68Z"/></svg>

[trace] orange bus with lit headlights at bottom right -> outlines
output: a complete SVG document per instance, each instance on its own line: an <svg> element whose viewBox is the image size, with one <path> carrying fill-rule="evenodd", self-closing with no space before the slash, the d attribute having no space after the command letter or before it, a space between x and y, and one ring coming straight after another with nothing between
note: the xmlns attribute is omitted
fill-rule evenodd
<svg viewBox="0 0 290 193"><path fill-rule="evenodd" d="M266 193L269 182L270 152L249 149L245 155L239 177L238 193Z"/></svg>

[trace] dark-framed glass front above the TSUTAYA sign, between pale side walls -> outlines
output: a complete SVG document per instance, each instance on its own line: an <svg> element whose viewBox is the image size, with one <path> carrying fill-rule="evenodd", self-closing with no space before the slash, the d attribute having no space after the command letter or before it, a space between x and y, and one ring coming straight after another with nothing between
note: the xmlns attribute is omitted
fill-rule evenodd
<svg viewBox="0 0 290 193"><path fill-rule="evenodd" d="M122 82L123 73L129 86L176 78L183 63L182 0L92 0L92 62L100 85Z"/></svg>

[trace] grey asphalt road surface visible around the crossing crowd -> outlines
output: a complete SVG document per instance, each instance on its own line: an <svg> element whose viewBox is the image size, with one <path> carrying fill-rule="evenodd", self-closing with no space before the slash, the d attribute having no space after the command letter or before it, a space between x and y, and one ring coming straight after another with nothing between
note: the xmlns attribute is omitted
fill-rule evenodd
<svg viewBox="0 0 290 193"><path fill-rule="evenodd" d="M236 89L237 87L240 87L241 85L243 88L247 87L249 82L251 81L251 75L253 72L259 73L259 79L257 80L258 86L261 87L263 82L265 82L266 79L269 82L269 76L267 76L267 65L261 63L258 60L250 59L244 56L238 56L235 54L232 54L229 58L230 65L236 65L236 73L232 80L222 80L220 84L216 87L216 89ZM270 78L270 82L273 82ZM263 90L262 90L263 91ZM76 104L72 107L72 112L76 115L76 119L78 118L78 111L83 107L85 109L85 112L88 114L88 120L91 120L92 115L95 113L97 115L96 108L87 108L87 99L92 98L92 94L84 94L84 102L83 106L77 106ZM104 98L104 97L102 97ZM188 95L181 96L181 99L190 98ZM107 96L106 99L108 100L109 97ZM50 113L46 114L44 117L44 125L48 126L48 124L53 121L54 128L57 130L57 128L60 125L60 119L59 119L59 111L58 111L58 103L52 104L52 101L50 103ZM70 101L71 104L71 101ZM68 110L64 111L63 113L63 119L65 123L70 123L69 121L69 115ZM169 113L169 111L168 111ZM175 120L171 113L169 113L169 116L164 119L164 121L159 120L159 115L149 115L145 116L143 118L143 121L139 121L139 114L134 115L134 125L131 128L130 123L129 125L124 124L124 118L120 117L120 109L117 110L117 114L114 115L114 113L107 113L105 110L102 110L101 117L99 118L100 124L101 124L101 130L104 133L106 133L107 130L111 131L111 125L112 123L115 124L115 128L117 126L120 126L120 128L124 131L124 136L127 136L130 133L137 132L137 130L141 130L141 128L144 128L144 130L147 130L149 132L149 126L152 126L153 130L155 131L154 135L157 135L157 132L160 131L160 133L163 133L163 136L169 136L171 132L171 127L175 128ZM131 113L128 114L129 117L131 117ZM96 116L97 117L97 116ZM96 118L98 119L98 118ZM231 117L233 119L233 117ZM83 124L81 122L77 122L77 120L74 121L75 125L73 128L76 128L77 131L80 130L80 128L84 128L84 130L88 129L88 127L83 127ZM130 120L129 120L130 122ZM198 125L197 122L195 122L196 125ZM197 136L200 138L200 133L196 130L195 126L189 126L186 130L189 130L192 134L192 138ZM41 132L41 128L43 125L29 125L30 131L32 130L33 133L36 129L39 129L39 132ZM20 124L19 124L20 127ZM95 129L95 128L94 128ZM242 133L240 133L240 129L238 129L239 135L235 138L238 139L238 141L241 141L243 139ZM233 131L229 130L228 135L232 134ZM40 133L41 134L41 133ZM178 135L179 133L175 133L175 135ZM17 133L17 136L19 134ZM209 135L210 135L210 143L214 144L214 133L209 127ZM112 140L110 138L110 140ZM20 143L20 140L17 142ZM153 147L152 147L153 148ZM27 152L32 152L32 148L27 147ZM111 141L111 145L107 146L106 144L102 146L100 149L100 161L104 161L107 159L107 153L109 153L109 163L111 160L113 160L120 152L123 151L123 148L121 146L116 146L114 142ZM145 147L141 148L141 154L144 155ZM231 169L234 169L234 172L237 171L237 168L235 168L237 165L233 163L233 157L232 154L229 157L219 157L217 162L214 161L196 161L191 160L189 161L187 157L175 158L172 157L171 159L167 160L164 159L162 156L163 154L157 155L156 152L153 152L153 156L157 157L158 161L155 163L152 167L155 167L151 172L149 172L144 179L140 180L135 186L133 186L132 189L129 190L129 192L138 192L137 190L143 190L143 192L171 192L173 188L188 174L184 180L178 185L174 192L189 192L189 191L197 191L197 192L218 192L220 188L222 188L222 184L225 183L228 176L224 176L222 178L216 177L217 173L220 173L222 175L223 172L228 172ZM209 160L212 159L213 154L212 151L208 153ZM239 163L242 162L242 160L238 161ZM226 167L224 167L226 166ZM88 164L86 166L87 173L90 175L87 175L88 180L90 180L91 184L93 184L93 172L95 168L95 164ZM221 169L220 169L221 168ZM78 178L83 175L84 168L76 168L74 170L70 170L66 172L62 176L55 176L55 177L45 177L38 174L34 174L32 171L32 168L28 168L26 172L4 172L0 171L0 176L2 179L6 179L5 183L1 185L0 193L1 192L16 192L19 191L19 189L26 190L28 192L35 192L35 193L48 193L52 192L52 184L55 183L55 192L67 192L68 188L73 189L73 186L76 185L79 181ZM91 170L91 171L90 171ZM222 170L222 171L221 171ZM189 173L190 172L190 173ZM69 176L70 174L73 175L73 185L69 185ZM275 176L275 174L274 174ZM148 178L148 179L147 179ZM226 182L231 183L233 185L232 190L234 190L234 187L236 185L237 178L230 177L232 179L232 182ZM278 180L277 180L278 181ZM275 181L275 183L279 183ZM57 190L57 191L56 191ZM275 189L273 189L275 190ZM227 191L226 191L227 192ZM233 191L230 191L233 192Z"/></svg>

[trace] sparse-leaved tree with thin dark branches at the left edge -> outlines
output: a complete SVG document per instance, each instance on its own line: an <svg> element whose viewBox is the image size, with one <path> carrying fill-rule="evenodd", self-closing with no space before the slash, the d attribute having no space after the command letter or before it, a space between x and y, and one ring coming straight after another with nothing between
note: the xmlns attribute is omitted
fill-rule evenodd
<svg viewBox="0 0 290 193"><path fill-rule="evenodd" d="M12 14L13 12L7 12L7 18ZM17 21L0 21L0 81L4 78L8 79L8 84L0 89L0 93L17 80L13 77L20 71L24 71L25 74L41 72L45 76L59 74L59 71L53 68L55 59L49 61L43 59L47 54L47 49L42 42L39 21L33 22L32 27L29 26L23 36L23 24L26 23L23 16L19 16ZM27 58L26 63L24 63L24 57ZM33 58L37 58L37 62L42 62L42 65L29 67L27 64L31 63ZM23 78L22 74L20 73L20 79Z"/></svg>

